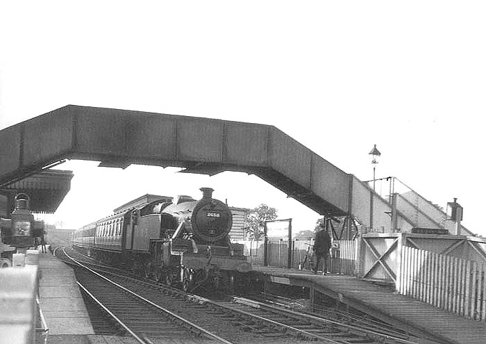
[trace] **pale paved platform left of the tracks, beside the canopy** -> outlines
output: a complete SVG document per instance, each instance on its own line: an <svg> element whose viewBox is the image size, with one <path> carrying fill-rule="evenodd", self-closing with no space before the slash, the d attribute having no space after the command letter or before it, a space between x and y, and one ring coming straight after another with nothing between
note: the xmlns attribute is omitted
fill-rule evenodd
<svg viewBox="0 0 486 344"><path fill-rule="evenodd" d="M39 270L40 308L50 341L62 335L94 334L73 269L48 250L39 254Z"/></svg>

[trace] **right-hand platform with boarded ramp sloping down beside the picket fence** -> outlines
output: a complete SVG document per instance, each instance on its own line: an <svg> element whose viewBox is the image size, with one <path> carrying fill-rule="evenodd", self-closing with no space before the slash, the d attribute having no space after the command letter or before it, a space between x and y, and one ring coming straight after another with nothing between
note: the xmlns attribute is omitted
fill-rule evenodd
<svg viewBox="0 0 486 344"><path fill-rule="evenodd" d="M400 325L410 333L428 336L439 343L484 344L486 324L438 309L393 293L391 288L379 286L356 277L343 275L314 275L309 271L254 266L267 281L291 286L314 288L344 304L369 313L392 325Z"/></svg>

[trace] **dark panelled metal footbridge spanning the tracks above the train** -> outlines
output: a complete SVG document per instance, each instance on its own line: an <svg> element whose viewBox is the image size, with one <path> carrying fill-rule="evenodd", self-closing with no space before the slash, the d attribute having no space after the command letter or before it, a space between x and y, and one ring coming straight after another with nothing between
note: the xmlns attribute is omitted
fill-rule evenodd
<svg viewBox="0 0 486 344"><path fill-rule="evenodd" d="M255 174L321 215L410 231L385 199L275 126L68 105L0 131L0 187L64 159ZM392 229L392 230L391 230Z"/></svg>

